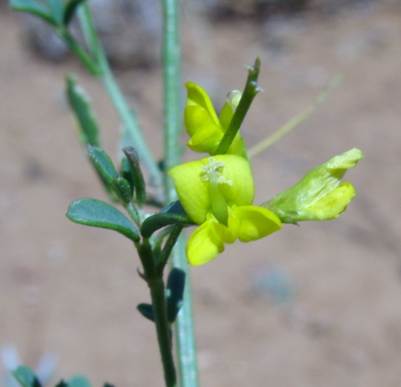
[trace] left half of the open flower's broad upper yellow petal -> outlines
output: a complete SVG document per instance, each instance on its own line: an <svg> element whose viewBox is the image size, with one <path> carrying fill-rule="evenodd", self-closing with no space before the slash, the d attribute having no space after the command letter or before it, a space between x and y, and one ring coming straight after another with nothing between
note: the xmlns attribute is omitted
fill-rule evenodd
<svg viewBox="0 0 401 387"><path fill-rule="evenodd" d="M168 171L174 180L182 206L197 224L202 224L206 220L211 207L208 183L200 178L202 166L207 162L207 158L190 161Z"/></svg>

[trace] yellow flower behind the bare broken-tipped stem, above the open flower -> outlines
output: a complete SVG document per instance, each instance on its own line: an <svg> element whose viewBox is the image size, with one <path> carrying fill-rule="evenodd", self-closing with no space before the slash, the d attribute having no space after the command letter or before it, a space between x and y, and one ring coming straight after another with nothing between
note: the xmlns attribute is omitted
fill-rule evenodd
<svg viewBox="0 0 401 387"><path fill-rule="evenodd" d="M227 94L227 100L217 116L212 101L206 91L193 82L187 82L188 98L184 111L185 127L191 139L188 146L195 152L205 152L214 155L218 144L223 138L242 93L234 90ZM228 149L228 154L246 156L245 143L238 133Z"/></svg>

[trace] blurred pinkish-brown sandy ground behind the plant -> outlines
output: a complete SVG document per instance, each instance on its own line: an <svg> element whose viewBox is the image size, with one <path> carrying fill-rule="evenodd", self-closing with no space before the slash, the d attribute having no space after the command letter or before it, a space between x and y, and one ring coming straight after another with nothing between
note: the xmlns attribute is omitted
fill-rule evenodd
<svg viewBox="0 0 401 387"><path fill-rule="evenodd" d="M265 92L244 124L250 146L346 75L317 113L252 160L257 203L335 154L359 147L366 156L348 172L358 196L338 220L287 225L192 270L201 384L400 386L401 14L312 15L277 21L274 33L186 22L183 81L217 105L261 56ZM75 199L105 199L74 133L65 74L91 94L112 155L118 119L73 60L28 52L5 9L0 36L0 344L14 343L30 366L59 354L54 380L84 373L97 386L162 386L154 327L135 310L148 294L131 243L65 218ZM159 72L118 76L161 156Z"/></svg>

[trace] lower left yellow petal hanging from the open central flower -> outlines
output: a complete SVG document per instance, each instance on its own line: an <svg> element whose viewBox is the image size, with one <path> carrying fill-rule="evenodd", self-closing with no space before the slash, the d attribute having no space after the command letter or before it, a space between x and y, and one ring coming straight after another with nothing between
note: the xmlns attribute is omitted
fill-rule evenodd
<svg viewBox="0 0 401 387"><path fill-rule="evenodd" d="M214 218L208 217L190 236L187 243L187 257L191 265L198 266L213 260L224 250L223 241L215 232Z"/></svg>

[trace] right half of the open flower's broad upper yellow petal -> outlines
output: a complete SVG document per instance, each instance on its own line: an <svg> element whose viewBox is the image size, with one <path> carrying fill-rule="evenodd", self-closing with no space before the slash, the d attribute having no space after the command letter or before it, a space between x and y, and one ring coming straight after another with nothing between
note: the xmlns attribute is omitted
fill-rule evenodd
<svg viewBox="0 0 401 387"><path fill-rule="evenodd" d="M255 187L249 162L237 155L218 155L214 158L224 164L223 176L227 182L231 182L220 184L226 202L237 206L251 205Z"/></svg>

